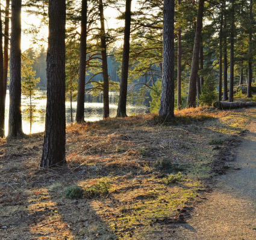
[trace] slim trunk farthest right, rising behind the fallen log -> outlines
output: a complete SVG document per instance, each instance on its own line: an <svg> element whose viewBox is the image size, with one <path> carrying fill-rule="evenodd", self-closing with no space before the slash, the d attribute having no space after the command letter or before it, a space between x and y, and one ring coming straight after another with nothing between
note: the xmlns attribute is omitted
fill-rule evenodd
<svg viewBox="0 0 256 240"><path fill-rule="evenodd" d="M247 97L252 97L252 0L250 1L250 26L249 26L249 62L248 62L248 87Z"/></svg>

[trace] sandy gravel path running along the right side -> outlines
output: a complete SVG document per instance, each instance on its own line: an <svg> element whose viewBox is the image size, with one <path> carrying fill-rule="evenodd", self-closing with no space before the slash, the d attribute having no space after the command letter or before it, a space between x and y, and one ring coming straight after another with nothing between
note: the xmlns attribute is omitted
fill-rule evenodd
<svg viewBox="0 0 256 240"><path fill-rule="evenodd" d="M239 147L235 167L217 179L207 200L172 239L256 240L256 120Z"/></svg>

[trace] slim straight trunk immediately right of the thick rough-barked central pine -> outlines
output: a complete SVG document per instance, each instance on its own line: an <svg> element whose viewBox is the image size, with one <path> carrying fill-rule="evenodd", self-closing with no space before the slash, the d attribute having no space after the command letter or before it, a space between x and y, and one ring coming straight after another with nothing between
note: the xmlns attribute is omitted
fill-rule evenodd
<svg viewBox="0 0 256 240"><path fill-rule="evenodd" d="M178 0L180 7L181 0ZM182 57L182 46L181 46L181 27L178 28L178 68L177 68L177 108L181 109L181 57Z"/></svg>

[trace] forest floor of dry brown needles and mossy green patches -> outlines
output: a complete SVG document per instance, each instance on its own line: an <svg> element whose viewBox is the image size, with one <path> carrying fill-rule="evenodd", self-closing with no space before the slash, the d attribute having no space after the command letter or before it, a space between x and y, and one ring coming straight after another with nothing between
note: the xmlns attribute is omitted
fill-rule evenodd
<svg viewBox="0 0 256 240"><path fill-rule="evenodd" d="M146 115L75 124L67 164L53 169L39 167L43 134L2 139L0 239L184 239L181 226L210 205L216 176L241 171L234 154L255 118L255 109L198 108L169 123ZM74 185L80 199L67 198Z"/></svg>

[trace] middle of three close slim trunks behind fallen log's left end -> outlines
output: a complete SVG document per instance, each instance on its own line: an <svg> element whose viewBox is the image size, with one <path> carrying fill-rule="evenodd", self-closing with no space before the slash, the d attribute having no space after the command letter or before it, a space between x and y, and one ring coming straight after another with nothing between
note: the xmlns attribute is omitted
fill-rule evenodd
<svg viewBox="0 0 256 240"><path fill-rule="evenodd" d="M226 0L223 0L223 10L226 10ZM223 101L228 100L228 52L226 43L226 13L223 19Z"/></svg>

